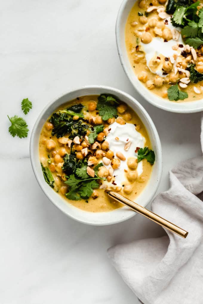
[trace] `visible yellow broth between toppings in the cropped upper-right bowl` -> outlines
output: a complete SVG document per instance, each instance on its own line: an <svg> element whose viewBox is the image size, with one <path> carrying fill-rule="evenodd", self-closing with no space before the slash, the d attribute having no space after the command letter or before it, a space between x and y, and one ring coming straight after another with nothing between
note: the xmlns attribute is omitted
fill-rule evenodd
<svg viewBox="0 0 203 304"><path fill-rule="evenodd" d="M136 76L138 77L140 75L141 72L146 72L147 73L147 80L151 80L154 81L155 78L155 74L153 74L149 68L146 66L146 59L145 59L145 53L141 52L141 51L136 51L135 47L138 45L137 43L137 38L138 36L136 36L135 31L136 29L139 28L143 28L145 27L145 24L143 25L140 21L139 21L139 16L138 16L138 12L142 12L143 15L146 11L146 8L149 7L149 4L152 1L150 0L146 0L145 1L145 8L142 9L139 7L139 1L135 2L135 5L133 6L133 8L131 9L131 12L128 16L127 19L127 23L126 23L126 27L125 27L125 42L126 42L126 48L127 48L127 52L128 52L128 58L130 60L131 66L136 74ZM203 3L203 1L200 1L201 3ZM161 3L155 4L155 5L162 5ZM147 19L152 19L152 18L157 18L158 17L158 13L156 11L150 12L149 16L147 17ZM138 25L131 26L132 22L138 22ZM149 21L149 20L148 20ZM161 21L161 20L160 20ZM148 28L148 33L151 34L152 38L156 37L154 31L154 28ZM166 42L167 43L167 42ZM174 44L176 42L174 41ZM160 50L161 52L161 50ZM137 56L142 56L140 57L139 60L137 58ZM170 75L170 74L169 74ZM169 76L166 76L164 78L165 81L169 82ZM146 86L145 82L142 82L143 85ZM173 83L174 84L174 83ZM151 92L158 95L161 98L165 98L168 101L170 101L167 97L167 89L171 86L171 83L163 83L163 86L161 87L154 87L151 89ZM196 88L198 88L201 91L201 87L203 86L203 81L198 82L197 84L192 84L191 82L189 83L188 87L186 89L181 88L182 91L187 92L188 94L188 98L185 98L184 100L178 100L176 102L190 102L190 101L195 101L195 100L199 100L202 99L202 94L196 94L194 92L194 86Z"/></svg>

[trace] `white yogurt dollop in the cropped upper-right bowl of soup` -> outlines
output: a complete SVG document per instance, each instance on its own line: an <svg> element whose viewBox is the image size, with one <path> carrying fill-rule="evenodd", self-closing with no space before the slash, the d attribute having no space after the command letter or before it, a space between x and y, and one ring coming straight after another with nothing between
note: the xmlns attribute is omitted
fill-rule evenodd
<svg viewBox="0 0 203 304"><path fill-rule="evenodd" d="M168 22L167 27L172 31L173 29L178 30L179 32L181 32L181 28L179 27L174 27L173 24L170 21L170 18L167 18L163 21ZM166 77L166 75L163 74L163 60L165 57L169 58L169 57L173 57L174 54L177 54L178 56L180 55L181 51L184 50L184 48L179 48L178 50L173 50L172 47L174 45L179 45L182 44L183 46L184 41L182 39L182 36L180 34L178 41L171 39L167 42L164 42L164 39L162 37L154 37L152 39L152 41L150 43L142 43L142 49L145 52L145 57L146 57L146 61L147 61L147 67L149 67L149 70L154 73L157 74L161 77ZM152 59L156 59L158 57L160 57L160 59L162 60L161 63L159 64L159 66L157 66L157 69L152 70L152 65L150 64L150 61Z"/></svg>

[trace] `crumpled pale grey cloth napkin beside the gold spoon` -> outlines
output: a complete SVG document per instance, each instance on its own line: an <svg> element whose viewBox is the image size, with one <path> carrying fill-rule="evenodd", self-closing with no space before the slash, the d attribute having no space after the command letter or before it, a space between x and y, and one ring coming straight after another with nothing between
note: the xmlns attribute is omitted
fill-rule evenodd
<svg viewBox="0 0 203 304"><path fill-rule="evenodd" d="M203 152L203 119L201 119ZM203 303L203 157L170 171L170 189L152 202L152 211L188 231L134 241L108 250L126 284L144 304Z"/></svg>

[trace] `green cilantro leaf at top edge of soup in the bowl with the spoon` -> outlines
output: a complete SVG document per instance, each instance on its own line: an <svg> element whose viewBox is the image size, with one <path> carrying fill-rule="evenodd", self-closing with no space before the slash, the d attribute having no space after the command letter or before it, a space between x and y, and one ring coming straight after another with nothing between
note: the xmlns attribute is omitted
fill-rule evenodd
<svg viewBox="0 0 203 304"><path fill-rule="evenodd" d="M98 103L96 109L99 111L99 115L103 120L113 118L117 116L117 100L110 95L102 94L98 97Z"/></svg>

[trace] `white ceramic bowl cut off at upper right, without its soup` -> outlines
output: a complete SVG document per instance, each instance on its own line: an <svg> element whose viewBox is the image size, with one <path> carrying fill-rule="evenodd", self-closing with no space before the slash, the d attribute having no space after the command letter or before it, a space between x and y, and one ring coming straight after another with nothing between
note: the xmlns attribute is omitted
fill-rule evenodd
<svg viewBox="0 0 203 304"><path fill-rule="evenodd" d="M142 83L138 80L135 75L133 68L131 67L130 61L128 59L128 54L125 46L125 25L128 19L128 15L138 0L124 0L118 12L117 22L116 22L116 42L118 54L121 60L121 65L131 81L135 89L152 105L156 107L177 113L195 113L203 110L203 99L199 101L192 102L171 102L169 100L160 98L159 96L148 90Z"/></svg>

